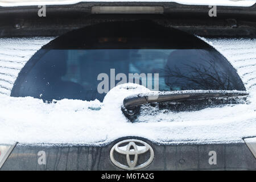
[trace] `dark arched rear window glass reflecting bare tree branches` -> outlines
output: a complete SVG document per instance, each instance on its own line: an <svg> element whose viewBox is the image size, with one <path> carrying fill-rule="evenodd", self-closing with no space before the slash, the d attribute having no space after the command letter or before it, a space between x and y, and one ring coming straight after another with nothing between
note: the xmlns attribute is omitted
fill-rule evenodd
<svg viewBox="0 0 256 182"><path fill-rule="evenodd" d="M20 72L12 96L102 101L110 89L126 82L160 91L245 90L225 57L201 40L199 46L193 38L192 46L172 41L169 47L155 36L152 42L139 36L96 36L100 46L91 40L69 47L66 39L75 37L69 34L40 49ZM183 42L183 36L178 40Z"/></svg>

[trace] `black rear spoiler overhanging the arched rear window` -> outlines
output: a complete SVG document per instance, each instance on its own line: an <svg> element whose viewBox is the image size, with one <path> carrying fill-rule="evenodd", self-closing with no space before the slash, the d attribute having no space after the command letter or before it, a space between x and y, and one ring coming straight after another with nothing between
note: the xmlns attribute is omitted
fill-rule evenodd
<svg viewBox="0 0 256 182"><path fill-rule="evenodd" d="M8 5L8 2L17 1L17 3ZM24 0L24 2L29 0ZM56 0L44 2L55 3ZM119 0L121 1L121 0ZM213 2L247 2L247 6L217 6L217 15L210 17L209 11L213 6L209 5L184 5L176 2L80 2L72 4L72 0L59 2L70 2L66 5L46 5L46 16L38 16L38 11L44 2L34 1L35 5L25 6L26 3L19 4L19 0L3 0L0 5L0 36L58 36L65 32L88 26L93 23L100 23L115 20L137 20L150 19L164 26L170 26L205 37L250 37L256 36L256 4L255 1L213 1ZM186 0L177 0L179 2L190 2ZM203 0L196 0L203 2ZM193 1L195 3L196 1ZM209 0L207 1L209 2ZM250 3L248 3L250 2ZM5 3L5 4L3 4ZM251 6L249 6L251 5ZM97 11L99 7L115 7L122 10L122 7L158 7L158 11L151 12L133 12L119 14L113 11ZM134 8L135 7L135 8ZM150 8L152 9L152 8ZM94 10L94 11L93 11ZM126 9L127 10L127 9Z"/></svg>

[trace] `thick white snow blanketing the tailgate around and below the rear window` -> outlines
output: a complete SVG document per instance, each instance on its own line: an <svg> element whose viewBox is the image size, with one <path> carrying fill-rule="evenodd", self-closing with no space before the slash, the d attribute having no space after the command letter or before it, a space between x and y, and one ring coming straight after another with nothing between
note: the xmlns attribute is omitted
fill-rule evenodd
<svg viewBox="0 0 256 182"><path fill-rule="evenodd" d="M44 39L40 44L43 45L49 40L50 38ZM33 42L33 39L24 42L22 38L9 39L9 41L13 41L13 47L10 48L14 49L14 47L23 47L19 47L19 44L24 44L26 41ZM46 104L31 97L14 98L8 94L0 94L0 143L64 143L99 146L121 137L136 136L162 144L201 144L240 143L243 142L242 138L255 137L256 39L205 39L205 41L227 57L237 69L249 93L247 104L230 104L179 113L156 112L152 108L150 114L142 114L139 117L140 122L131 123L122 114L121 105L125 97L150 92L141 85L118 85L110 90L103 102L61 100ZM7 44L1 44L2 47L5 45ZM34 47L26 59L28 60L39 48L39 45ZM3 56L3 60L6 61L7 58ZM26 61L21 63L24 65ZM0 57L1 64L2 57ZM16 68L16 65L10 67ZM0 73L2 71L7 72L7 68L1 70L0 67ZM2 80L11 81L11 78L15 80L18 74L16 69L11 71L8 69L8 71L13 76L5 74ZM2 85L4 87L1 87L0 82L0 92L5 87L11 88L11 84Z"/></svg>

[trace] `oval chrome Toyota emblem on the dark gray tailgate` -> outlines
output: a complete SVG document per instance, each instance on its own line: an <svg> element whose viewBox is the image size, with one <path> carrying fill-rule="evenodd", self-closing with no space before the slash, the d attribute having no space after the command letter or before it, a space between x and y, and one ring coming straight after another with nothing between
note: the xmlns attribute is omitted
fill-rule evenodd
<svg viewBox="0 0 256 182"><path fill-rule="evenodd" d="M125 160L122 160L122 162L120 162L120 155L125 156L127 164L125 164ZM131 156L133 156L133 159L131 159ZM143 157L144 160L139 161L139 157ZM110 160L115 166L122 169L142 169L147 167L153 159L154 151L152 147L148 143L143 142L142 140L122 140L121 142L116 143L110 150Z"/></svg>

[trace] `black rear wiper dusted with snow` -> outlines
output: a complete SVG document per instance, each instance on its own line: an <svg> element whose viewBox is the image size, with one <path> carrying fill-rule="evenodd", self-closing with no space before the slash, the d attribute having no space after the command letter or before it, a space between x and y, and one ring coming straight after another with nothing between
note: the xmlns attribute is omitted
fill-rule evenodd
<svg viewBox="0 0 256 182"><path fill-rule="evenodd" d="M123 107L127 110L133 110L135 107L156 102L201 100L222 97L229 98L239 96L244 97L247 95L248 93L246 91L239 90L182 90L150 92L126 97L123 100Z"/></svg>

